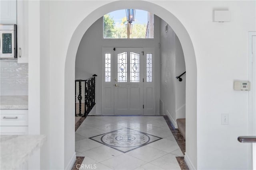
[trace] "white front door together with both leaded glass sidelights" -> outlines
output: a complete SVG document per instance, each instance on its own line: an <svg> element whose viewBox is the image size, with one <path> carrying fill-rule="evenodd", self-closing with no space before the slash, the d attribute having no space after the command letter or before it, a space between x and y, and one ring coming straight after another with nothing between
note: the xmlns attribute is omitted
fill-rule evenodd
<svg viewBox="0 0 256 170"><path fill-rule="evenodd" d="M156 115L154 48L102 48L102 114Z"/></svg>

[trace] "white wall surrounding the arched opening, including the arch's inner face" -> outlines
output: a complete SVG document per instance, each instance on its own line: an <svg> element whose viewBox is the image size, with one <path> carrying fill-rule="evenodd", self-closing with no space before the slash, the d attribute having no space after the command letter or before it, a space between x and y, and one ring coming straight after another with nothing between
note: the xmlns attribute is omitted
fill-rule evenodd
<svg viewBox="0 0 256 170"><path fill-rule="evenodd" d="M239 135L248 134L248 93L234 91L232 84L234 79L248 79L247 40L248 31L256 31L255 3L50 1L50 38L45 42L50 45L50 63L41 65L41 71L49 70L47 74L50 76L44 82L50 85L47 117L52 122L50 168L64 169L74 154L72 103L75 56L80 39L103 14L130 6L154 12L171 25L180 39L187 71L186 119L190 121L186 122L186 155L190 165L196 169L248 169L248 144L237 142ZM228 8L231 21L212 22L212 11L216 8ZM42 32L43 35L46 34ZM30 48L34 45L38 44L31 44ZM37 66L34 59L30 58L29 62ZM33 70L37 68L32 67ZM38 76L38 72L29 73L29 79ZM30 88L40 90L36 83L30 84ZM40 105L37 100L30 102L34 107ZM221 113L229 113L229 125L220 125Z"/></svg>

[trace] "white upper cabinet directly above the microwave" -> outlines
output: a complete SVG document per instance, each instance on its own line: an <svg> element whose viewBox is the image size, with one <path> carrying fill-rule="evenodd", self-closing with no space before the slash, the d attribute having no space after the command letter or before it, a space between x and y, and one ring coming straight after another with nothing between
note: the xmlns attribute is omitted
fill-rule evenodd
<svg viewBox="0 0 256 170"><path fill-rule="evenodd" d="M0 23L17 23L16 0L0 0Z"/></svg>

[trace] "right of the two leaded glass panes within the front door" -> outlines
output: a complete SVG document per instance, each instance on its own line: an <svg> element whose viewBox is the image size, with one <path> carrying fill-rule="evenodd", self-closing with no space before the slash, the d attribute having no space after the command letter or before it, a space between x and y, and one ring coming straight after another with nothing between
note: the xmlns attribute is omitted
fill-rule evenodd
<svg viewBox="0 0 256 170"><path fill-rule="evenodd" d="M140 82L140 54L130 52L130 81Z"/></svg>

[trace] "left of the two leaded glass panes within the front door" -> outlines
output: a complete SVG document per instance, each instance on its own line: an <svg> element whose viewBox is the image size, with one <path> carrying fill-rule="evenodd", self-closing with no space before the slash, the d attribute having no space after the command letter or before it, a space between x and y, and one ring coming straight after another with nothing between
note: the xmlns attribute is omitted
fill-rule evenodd
<svg viewBox="0 0 256 170"><path fill-rule="evenodd" d="M127 52L117 54L118 82L127 82Z"/></svg>

